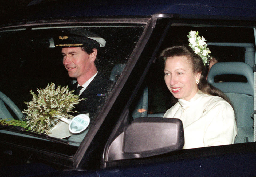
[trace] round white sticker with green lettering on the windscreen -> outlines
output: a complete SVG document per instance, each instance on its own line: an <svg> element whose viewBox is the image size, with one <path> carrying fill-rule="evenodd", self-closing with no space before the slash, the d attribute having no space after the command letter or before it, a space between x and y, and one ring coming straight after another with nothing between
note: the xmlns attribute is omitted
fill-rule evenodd
<svg viewBox="0 0 256 177"><path fill-rule="evenodd" d="M86 114L75 116L69 123L69 131L71 133L80 133L84 131L90 123L90 118Z"/></svg>

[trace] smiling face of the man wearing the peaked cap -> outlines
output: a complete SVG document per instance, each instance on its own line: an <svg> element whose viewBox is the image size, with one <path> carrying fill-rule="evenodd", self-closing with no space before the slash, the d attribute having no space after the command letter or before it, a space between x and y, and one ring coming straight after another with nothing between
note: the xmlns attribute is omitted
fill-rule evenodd
<svg viewBox="0 0 256 177"><path fill-rule="evenodd" d="M92 54L87 54L81 47L62 48L63 65L69 77L77 78L86 76L94 66Z"/></svg>

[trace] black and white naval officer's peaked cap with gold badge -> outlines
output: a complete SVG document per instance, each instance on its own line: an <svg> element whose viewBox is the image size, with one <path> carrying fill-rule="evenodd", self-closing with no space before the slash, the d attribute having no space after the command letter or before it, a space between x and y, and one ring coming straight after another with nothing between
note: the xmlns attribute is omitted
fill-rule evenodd
<svg viewBox="0 0 256 177"><path fill-rule="evenodd" d="M96 48L104 47L105 39L97 34L86 30L79 31L62 31L57 37L55 47L89 47Z"/></svg>

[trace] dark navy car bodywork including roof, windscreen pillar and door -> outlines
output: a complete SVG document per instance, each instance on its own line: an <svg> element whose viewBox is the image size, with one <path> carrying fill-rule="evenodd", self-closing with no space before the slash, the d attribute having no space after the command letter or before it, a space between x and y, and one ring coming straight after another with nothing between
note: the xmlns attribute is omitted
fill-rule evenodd
<svg viewBox="0 0 256 177"><path fill-rule="evenodd" d="M137 23L147 25L147 29L130 56L124 74L116 83L115 93L99 114L99 123L89 131L76 153L65 156L45 149L40 151L19 147L24 149L21 159L27 159L27 162L6 163L0 167L0 176L256 176L256 142L180 150L146 158L104 159L104 148L111 144L116 134L125 129L125 126L120 125L129 124L124 123L129 116L129 105L143 85L151 64L155 63L157 51L171 24L238 26L254 28L255 31L256 1L140 0L86 4L84 1L53 1L29 5L19 12L10 13L1 22L0 29L79 26L87 23L92 26ZM250 64L254 63L250 61ZM104 132L105 127L109 128L107 133ZM8 143L1 141L0 144L5 146ZM16 149L15 144L8 146ZM27 157L28 152L35 155ZM19 157L18 154L14 155L11 161Z"/></svg>

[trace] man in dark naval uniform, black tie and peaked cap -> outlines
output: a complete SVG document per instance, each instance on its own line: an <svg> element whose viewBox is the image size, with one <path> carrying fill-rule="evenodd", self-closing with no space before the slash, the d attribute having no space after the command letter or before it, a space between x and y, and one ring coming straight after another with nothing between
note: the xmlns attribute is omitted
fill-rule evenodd
<svg viewBox="0 0 256 177"><path fill-rule="evenodd" d="M78 112L89 113L92 120L99 113L100 106L111 86L111 81L106 79L95 65L99 47L105 46L105 40L96 34L83 31L79 34L58 36L58 44L61 47L63 65L68 71L69 77L76 78L77 83L70 85L70 90L85 100L76 106Z"/></svg>

